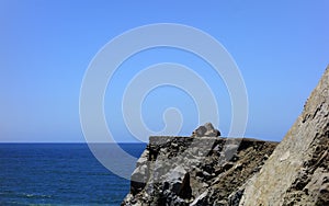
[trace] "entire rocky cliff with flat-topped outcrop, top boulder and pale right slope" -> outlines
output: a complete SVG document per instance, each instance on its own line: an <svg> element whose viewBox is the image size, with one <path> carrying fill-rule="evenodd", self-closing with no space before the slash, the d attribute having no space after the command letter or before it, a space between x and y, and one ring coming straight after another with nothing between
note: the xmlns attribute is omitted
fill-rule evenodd
<svg viewBox="0 0 329 206"><path fill-rule="evenodd" d="M122 205L329 205L329 68L282 142L150 137Z"/></svg>

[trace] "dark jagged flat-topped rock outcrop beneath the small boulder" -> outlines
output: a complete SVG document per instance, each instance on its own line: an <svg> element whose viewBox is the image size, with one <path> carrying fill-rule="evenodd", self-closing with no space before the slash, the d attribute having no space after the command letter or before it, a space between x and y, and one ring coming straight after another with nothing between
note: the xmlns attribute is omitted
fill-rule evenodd
<svg viewBox="0 0 329 206"><path fill-rule="evenodd" d="M150 137L122 205L227 205L276 142L220 137Z"/></svg>

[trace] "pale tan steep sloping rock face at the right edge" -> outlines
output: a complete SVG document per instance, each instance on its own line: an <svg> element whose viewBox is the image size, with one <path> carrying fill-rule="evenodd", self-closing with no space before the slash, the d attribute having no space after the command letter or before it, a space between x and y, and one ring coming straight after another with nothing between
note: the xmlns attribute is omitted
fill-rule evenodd
<svg viewBox="0 0 329 206"><path fill-rule="evenodd" d="M329 67L240 205L329 205Z"/></svg>

